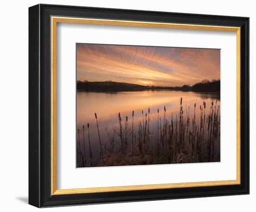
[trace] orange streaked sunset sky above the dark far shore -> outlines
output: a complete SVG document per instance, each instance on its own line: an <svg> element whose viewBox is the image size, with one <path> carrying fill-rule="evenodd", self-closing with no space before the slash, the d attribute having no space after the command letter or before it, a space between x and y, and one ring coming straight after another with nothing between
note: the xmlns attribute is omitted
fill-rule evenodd
<svg viewBox="0 0 256 212"><path fill-rule="evenodd" d="M220 50L77 44L77 80L149 86L194 85L220 79Z"/></svg>

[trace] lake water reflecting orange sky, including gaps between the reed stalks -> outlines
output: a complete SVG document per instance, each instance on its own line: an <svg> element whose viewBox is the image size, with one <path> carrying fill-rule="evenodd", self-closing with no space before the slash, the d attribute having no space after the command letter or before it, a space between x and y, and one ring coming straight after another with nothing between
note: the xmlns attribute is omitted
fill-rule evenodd
<svg viewBox="0 0 256 212"><path fill-rule="evenodd" d="M90 151L88 142L88 123L91 152L94 158L94 166L97 166L97 163L99 163L101 158L101 149L103 148L102 151L108 151L113 136L116 140L114 143L115 148L119 148L121 145L121 139L119 139L118 136L118 132L120 131L120 118L123 129L126 129L126 131L124 130L123 133L128 133L128 135L123 135L123 138L125 138L128 146L131 145L131 142L135 140L135 138L139 137L139 126L146 124L147 120L148 137L150 136L151 142L148 145L153 148L153 146L159 140L158 137L160 136L160 125L161 127L164 125L163 117L168 120L166 123L169 125L171 125L172 119L179 119L181 98L182 114L184 117L190 118L189 130L191 130L191 127L193 127L192 119L194 119L194 117L195 122L199 123L198 125L200 125L200 117L202 114L206 114L207 117L207 115L211 113L211 106L213 102L213 107L216 106L216 108L218 108L220 106L219 93L195 93L169 90L109 93L77 91L76 123L77 130L79 130L79 134L77 133L77 151L81 152L77 153L77 167L83 166L81 164L81 157L85 157L87 161L89 160ZM203 102L205 102L205 109L202 113L202 109L200 109L200 107L204 107ZM148 108L150 108L149 120ZM164 108L166 109L164 110ZM97 114L98 127L95 119L95 113ZM218 116L220 116L220 111L218 111ZM207 118L205 119L207 121ZM178 123L179 121L176 122L176 124ZM187 125L188 124L185 124L184 126ZM133 136L131 134L132 126L134 132ZM217 127L220 129L220 124L218 124ZM199 129L195 130L199 131ZM210 131L210 129L208 129L208 131ZM100 148L99 134L102 148ZM201 134L202 133L200 131L200 137L202 137ZM206 138L207 140L206 135L203 135L203 138ZM217 135L217 139L213 142L215 145L212 147L214 151L214 154L212 154L213 161L220 161L220 136ZM175 146L175 144L172 146ZM205 152L208 152L207 148L209 147L205 146L203 148L205 148ZM83 154L83 156L81 156L81 154ZM202 161L200 162L208 161L208 159L202 158L201 160ZM193 159L193 162L196 162L195 159Z"/></svg>

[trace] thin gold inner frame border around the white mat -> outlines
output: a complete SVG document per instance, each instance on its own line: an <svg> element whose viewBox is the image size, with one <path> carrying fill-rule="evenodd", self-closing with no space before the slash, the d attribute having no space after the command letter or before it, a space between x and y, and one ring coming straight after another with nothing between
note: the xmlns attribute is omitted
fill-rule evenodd
<svg viewBox="0 0 256 212"><path fill-rule="evenodd" d="M75 23L75 24L98 24L98 25L119 25L119 26L140 26L140 27L162 27L175 29L194 29L194 30L211 30L236 32L236 179L222 181L205 181L205 182L188 182L188 183L171 183L171 184L154 184L139 186L114 186L114 187L95 187L79 189L57 189L57 86L56 86L56 45L57 45L57 23ZM128 20L106 20L106 19L87 19L71 17L51 17L51 193L52 195L62 194L81 194L97 192L121 192L121 191L139 191L152 189L169 189L184 188L197 186L227 186L238 185L241 183L241 135L240 135L240 55L241 55L241 28L231 26L207 26L207 25L190 25L174 23L158 23L144 21Z"/></svg>

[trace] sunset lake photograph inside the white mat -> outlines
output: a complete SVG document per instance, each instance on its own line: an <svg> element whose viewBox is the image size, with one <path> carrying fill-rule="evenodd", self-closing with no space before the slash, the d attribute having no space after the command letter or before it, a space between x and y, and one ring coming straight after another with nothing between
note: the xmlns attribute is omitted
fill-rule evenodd
<svg viewBox="0 0 256 212"><path fill-rule="evenodd" d="M220 162L220 49L76 44L76 167Z"/></svg>

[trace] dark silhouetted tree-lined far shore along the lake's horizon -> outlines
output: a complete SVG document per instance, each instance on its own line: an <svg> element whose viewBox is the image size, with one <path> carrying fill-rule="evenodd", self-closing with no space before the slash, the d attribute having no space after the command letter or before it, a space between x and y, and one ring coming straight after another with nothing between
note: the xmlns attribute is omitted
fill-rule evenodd
<svg viewBox="0 0 256 212"><path fill-rule="evenodd" d="M119 91L145 91L145 90L172 90L172 91L194 91L194 92L216 92L220 93L220 80L202 80L193 86L142 86L124 82L103 81L89 82L87 80L77 81L78 91L104 91L104 92L119 92Z"/></svg>

